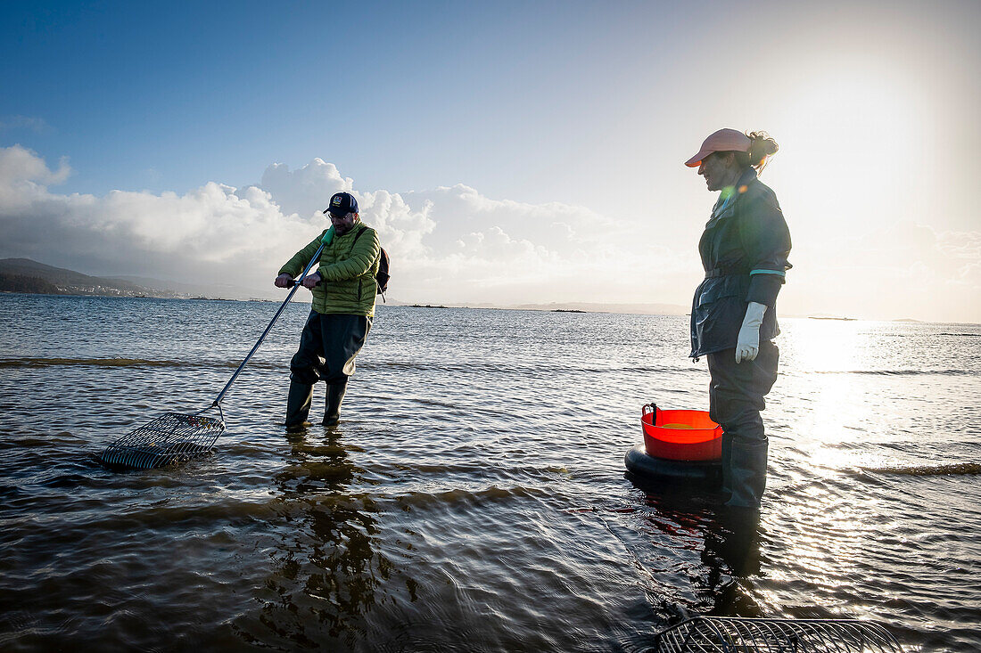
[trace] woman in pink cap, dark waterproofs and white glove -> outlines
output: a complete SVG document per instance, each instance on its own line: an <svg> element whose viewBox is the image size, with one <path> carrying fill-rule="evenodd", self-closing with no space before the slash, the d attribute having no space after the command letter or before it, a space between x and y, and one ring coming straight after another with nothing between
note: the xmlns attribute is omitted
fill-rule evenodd
<svg viewBox="0 0 981 653"><path fill-rule="evenodd" d="M709 415L722 425L727 506L758 508L767 439L759 412L777 378L777 293L791 269L791 235L777 197L757 174L777 143L766 132L719 129L685 162L720 191L698 254L705 279L692 304L692 353L708 360Z"/></svg>

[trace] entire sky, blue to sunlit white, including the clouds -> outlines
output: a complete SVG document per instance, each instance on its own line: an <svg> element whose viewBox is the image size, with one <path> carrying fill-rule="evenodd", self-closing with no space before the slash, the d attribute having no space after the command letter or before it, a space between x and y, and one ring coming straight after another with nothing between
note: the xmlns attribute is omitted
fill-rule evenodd
<svg viewBox="0 0 981 653"><path fill-rule="evenodd" d="M0 258L256 295L354 192L389 297L690 305L720 127L782 315L981 323L981 3L0 4Z"/></svg>

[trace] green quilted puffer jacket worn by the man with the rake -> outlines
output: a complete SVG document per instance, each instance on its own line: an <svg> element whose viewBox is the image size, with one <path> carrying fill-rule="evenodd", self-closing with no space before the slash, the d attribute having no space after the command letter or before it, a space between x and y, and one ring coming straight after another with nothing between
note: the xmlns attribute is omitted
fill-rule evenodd
<svg viewBox="0 0 981 653"><path fill-rule="evenodd" d="M283 266L280 274L296 277L320 247L324 230L309 245L296 252ZM364 231L357 240L355 236ZM313 289L313 310L317 313L341 313L344 315L375 316L375 296L378 285L375 274L378 272L379 254L382 247L378 232L370 226L355 223L344 235L334 236L324 245L320 254L320 267L317 272L324 279Z"/></svg>

